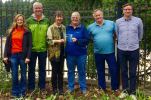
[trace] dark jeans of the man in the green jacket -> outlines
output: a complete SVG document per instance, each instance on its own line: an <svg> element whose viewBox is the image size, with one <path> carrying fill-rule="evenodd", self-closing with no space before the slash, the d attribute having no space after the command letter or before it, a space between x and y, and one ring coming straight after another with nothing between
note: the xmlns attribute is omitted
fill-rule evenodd
<svg viewBox="0 0 151 100"><path fill-rule="evenodd" d="M35 67L36 60L38 57L38 69L39 69L39 82L38 86L40 89L45 89L45 81L46 81L46 58L47 52L32 52L31 60L29 62L28 67L28 89L35 89Z"/></svg>

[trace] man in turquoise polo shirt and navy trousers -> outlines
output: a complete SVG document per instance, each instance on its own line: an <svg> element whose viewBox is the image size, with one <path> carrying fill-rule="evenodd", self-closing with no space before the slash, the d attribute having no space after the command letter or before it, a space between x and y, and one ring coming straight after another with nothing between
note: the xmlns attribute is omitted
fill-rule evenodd
<svg viewBox="0 0 151 100"><path fill-rule="evenodd" d="M106 92L105 82L105 61L108 64L111 76L111 87L114 93L118 93L118 79L117 79L117 62L114 51L114 36L115 23L103 18L103 11L96 9L93 11L95 22L88 26L90 37L94 43L95 64L98 75L99 89Z"/></svg>

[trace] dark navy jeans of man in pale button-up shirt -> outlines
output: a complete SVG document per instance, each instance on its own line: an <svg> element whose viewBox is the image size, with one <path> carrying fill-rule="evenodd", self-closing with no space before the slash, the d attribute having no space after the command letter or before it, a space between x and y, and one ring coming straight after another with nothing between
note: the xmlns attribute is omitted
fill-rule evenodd
<svg viewBox="0 0 151 100"><path fill-rule="evenodd" d="M121 67L123 90L126 90L130 94L135 94L139 49L134 51L123 51L118 49L118 61Z"/></svg>

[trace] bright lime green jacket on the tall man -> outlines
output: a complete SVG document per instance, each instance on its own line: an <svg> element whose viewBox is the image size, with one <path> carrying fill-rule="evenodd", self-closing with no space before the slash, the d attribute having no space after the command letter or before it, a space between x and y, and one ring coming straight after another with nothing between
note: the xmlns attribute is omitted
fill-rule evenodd
<svg viewBox="0 0 151 100"><path fill-rule="evenodd" d="M27 25L32 33L32 51L44 52L47 50L47 29L49 20L43 15L40 21L34 15L27 19Z"/></svg>

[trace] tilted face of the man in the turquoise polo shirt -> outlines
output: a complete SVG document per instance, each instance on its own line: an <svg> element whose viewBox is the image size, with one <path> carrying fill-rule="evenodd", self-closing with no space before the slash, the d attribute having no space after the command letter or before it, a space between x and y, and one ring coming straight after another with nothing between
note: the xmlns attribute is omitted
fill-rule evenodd
<svg viewBox="0 0 151 100"><path fill-rule="evenodd" d="M96 11L93 14L93 17L94 17L96 23L98 23L98 24L102 24L103 23L103 13L100 10Z"/></svg>

